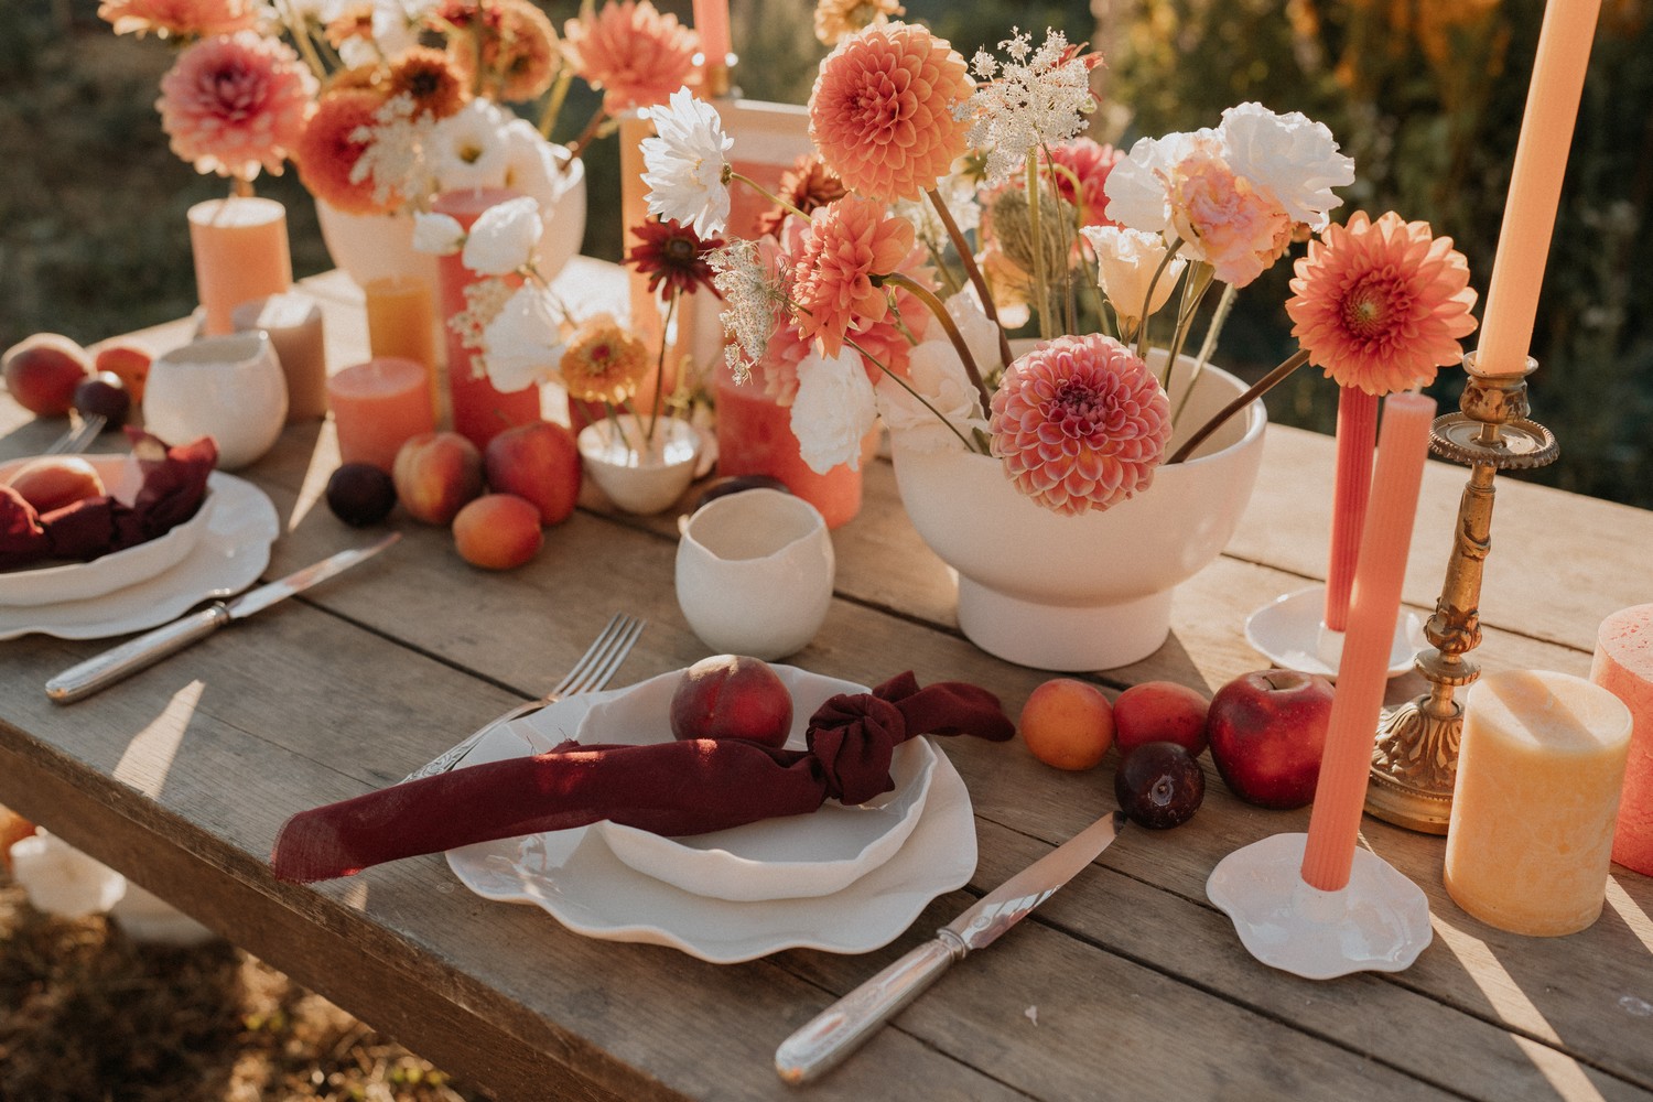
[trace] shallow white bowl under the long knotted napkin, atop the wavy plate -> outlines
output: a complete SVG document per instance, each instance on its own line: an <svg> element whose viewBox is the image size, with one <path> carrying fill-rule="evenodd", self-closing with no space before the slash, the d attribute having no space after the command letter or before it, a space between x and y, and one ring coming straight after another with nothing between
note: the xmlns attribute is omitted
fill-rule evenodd
<svg viewBox="0 0 1653 1102"><path fill-rule="evenodd" d="M810 715L840 692L865 692L835 677L793 666L775 666L792 692L792 732L787 745L803 748ZM592 705L579 740L669 742L668 705L679 672L651 677L612 701ZM936 773L936 750L927 739L907 739L891 762L894 790L860 806L828 800L812 815L749 823L726 831L663 838L615 823L595 829L626 866L696 895L755 902L803 899L843 891L884 864L917 826Z"/></svg>

